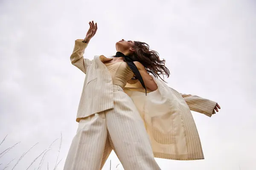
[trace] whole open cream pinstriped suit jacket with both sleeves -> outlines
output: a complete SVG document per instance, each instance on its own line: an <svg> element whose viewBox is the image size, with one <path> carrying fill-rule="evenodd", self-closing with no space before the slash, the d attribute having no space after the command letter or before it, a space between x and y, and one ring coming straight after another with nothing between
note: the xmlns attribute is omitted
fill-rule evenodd
<svg viewBox="0 0 256 170"><path fill-rule="evenodd" d="M113 108L111 74L103 62L103 55L93 60L83 57L87 44L75 41L71 63L86 74L76 121ZM153 76L152 76L153 77ZM194 95L180 94L155 77L158 89L145 96L140 82L130 81L125 93L134 101L151 140L154 156L165 159L204 159L198 130L191 111L212 116L216 102Z"/></svg>

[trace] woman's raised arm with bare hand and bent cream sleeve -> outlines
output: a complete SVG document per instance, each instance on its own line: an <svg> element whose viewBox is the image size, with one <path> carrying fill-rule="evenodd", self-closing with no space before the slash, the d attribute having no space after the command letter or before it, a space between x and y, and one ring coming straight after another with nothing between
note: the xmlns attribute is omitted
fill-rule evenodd
<svg viewBox="0 0 256 170"><path fill-rule="evenodd" d="M87 67L91 64L90 59L84 58L84 50L87 47L90 39L96 34L97 31L97 23L94 24L92 21L89 23L89 25L90 28L87 31L86 37L84 40L79 39L75 41L75 47L73 53L70 56L71 63L83 71L84 74L86 74Z"/></svg>

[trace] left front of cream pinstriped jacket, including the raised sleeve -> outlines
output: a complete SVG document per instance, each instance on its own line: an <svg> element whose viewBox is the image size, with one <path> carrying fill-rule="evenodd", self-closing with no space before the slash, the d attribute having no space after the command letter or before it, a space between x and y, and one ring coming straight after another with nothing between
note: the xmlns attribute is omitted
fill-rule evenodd
<svg viewBox="0 0 256 170"><path fill-rule="evenodd" d="M101 61L103 56L95 56L92 61L84 59L87 44L81 41L75 41L70 57L71 63L86 74L77 111L77 122L81 118L113 108L113 84L108 68ZM110 60L106 57L104 59Z"/></svg>

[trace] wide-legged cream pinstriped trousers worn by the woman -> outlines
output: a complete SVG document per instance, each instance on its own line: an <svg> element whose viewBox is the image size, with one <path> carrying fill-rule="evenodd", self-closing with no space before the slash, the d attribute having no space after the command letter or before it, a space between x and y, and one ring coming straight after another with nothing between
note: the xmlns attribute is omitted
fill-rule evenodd
<svg viewBox="0 0 256 170"><path fill-rule="evenodd" d="M114 149L125 170L160 170L131 98L113 85L114 108L81 119L64 170L100 170Z"/></svg>

